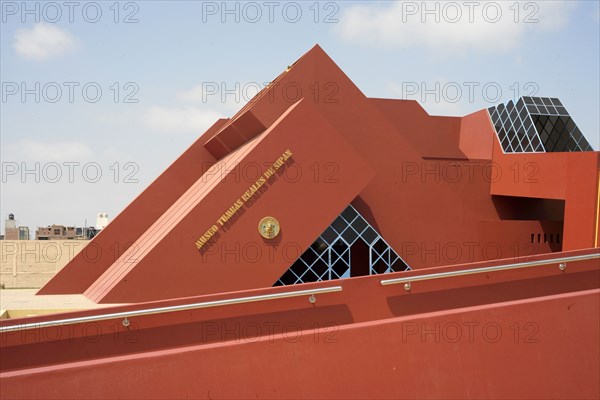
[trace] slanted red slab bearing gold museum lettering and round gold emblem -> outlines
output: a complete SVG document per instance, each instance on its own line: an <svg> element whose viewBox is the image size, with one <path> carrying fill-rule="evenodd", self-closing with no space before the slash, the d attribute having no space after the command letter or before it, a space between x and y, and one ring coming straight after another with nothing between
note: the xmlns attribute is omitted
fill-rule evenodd
<svg viewBox="0 0 600 400"><path fill-rule="evenodd" d="M288 149L292 157L273 179L220 226L219 217ZM311 168L328 162L339 168L335 182L315 179ZM132 303L272 286L373 177L352 147L305 102L290 107L279 122L216 167L85 295L96 302ZM266 216L281 224L276 240L258 232ZM220 227L218 235L199 251L196 240L213 224Z"/></svg>

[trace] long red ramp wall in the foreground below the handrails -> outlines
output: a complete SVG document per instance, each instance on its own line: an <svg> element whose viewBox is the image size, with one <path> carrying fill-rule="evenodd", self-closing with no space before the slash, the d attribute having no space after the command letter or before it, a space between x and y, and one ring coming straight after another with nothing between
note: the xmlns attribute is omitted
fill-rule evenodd
<svg viewBox="0 0 600 400"><path fill-rule="evenodd" d="M598 253L579 251L556 256ZM531 261L544 256L504 260ZM427 273L499 264L456 265ZM341 285L336 293L1 336L3 398L597 398L596 260L382 286L422 271L173 299L80 317ZM595 317L594 317L595 316ZM14 323L48 321L41 316Z"/></svg>

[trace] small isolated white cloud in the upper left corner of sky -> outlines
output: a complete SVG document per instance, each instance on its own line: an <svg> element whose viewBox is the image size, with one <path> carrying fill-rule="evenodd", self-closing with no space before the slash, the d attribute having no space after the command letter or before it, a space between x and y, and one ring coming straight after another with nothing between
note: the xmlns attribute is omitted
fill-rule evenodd
<svg viewBox="0 0 600 400"><path fill-rule="evenodd" d="M75 44L75 38L67 31L42 23L29 30L18 29L13 47L25 58L46 60L67 53Z"/></svg>

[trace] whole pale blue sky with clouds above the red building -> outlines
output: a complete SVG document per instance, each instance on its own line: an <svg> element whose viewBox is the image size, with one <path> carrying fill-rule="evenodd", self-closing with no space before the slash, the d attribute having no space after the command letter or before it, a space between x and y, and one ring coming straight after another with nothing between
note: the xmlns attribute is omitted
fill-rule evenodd
<svg viewBox="0 0 600 400"><path fill-rule="evenodd" d="M2 1L0 228L114 217L315 43L434 115L559 97L597 150L598 4Z"/></svg>

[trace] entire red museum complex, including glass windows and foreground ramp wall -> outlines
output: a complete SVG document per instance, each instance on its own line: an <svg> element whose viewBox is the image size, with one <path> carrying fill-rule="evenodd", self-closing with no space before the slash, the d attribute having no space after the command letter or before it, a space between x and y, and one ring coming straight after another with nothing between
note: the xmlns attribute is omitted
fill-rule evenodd
<svg viewBox="0 0 600 400"><path fill-rule="evenodd" d="M557 99L368 98L315 46L38 292L123 305L0 322L2 395L597 398L577 132Z"/></svg>

